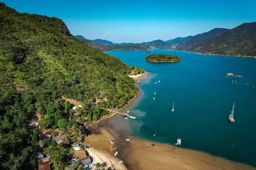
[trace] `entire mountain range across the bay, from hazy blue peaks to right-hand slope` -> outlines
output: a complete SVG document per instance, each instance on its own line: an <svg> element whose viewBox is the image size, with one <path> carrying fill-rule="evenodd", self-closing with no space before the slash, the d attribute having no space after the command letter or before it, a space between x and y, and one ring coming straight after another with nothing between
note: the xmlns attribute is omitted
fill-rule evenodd
<svg viewBox="0 0 256 170"><path fill-rule="evenodd" d="M76 38L84 40L81 35ZM86 40L86 39L85 39ZM256 22L244 23L233 29L214 28L211 31L197 34L195 36L177 37L172 40L154 40L142 43L113 43L108 40L88 40L99 45L114 45L114 49L175 49L183 51L195 51L204 54L220 54L232 56L256 56ZM117 47L122 46L122 48ZM128 47L129 46L129 47ZM108 47L110 48L110 47Z"/></svg>

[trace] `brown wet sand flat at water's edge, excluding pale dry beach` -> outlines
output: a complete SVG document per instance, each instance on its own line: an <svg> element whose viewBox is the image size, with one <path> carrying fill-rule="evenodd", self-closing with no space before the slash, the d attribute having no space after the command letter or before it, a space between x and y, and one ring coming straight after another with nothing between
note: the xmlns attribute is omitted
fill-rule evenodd
<svg viewBox="0 0 256 170"><path fill-rule="evenodd" d="M115 142L113 147L118 149L117 157L128 170L256 170L256 167L251 165L212 156L202 151L119 134L111 128L111 123L106 119L98 126L112 136Z"/></svg>

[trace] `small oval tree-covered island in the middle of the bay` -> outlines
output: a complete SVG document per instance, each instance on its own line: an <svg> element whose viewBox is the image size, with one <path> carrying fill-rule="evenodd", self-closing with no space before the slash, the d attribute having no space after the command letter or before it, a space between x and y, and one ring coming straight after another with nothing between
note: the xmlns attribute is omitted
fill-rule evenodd
<svg viewBox="0 0 256 170"><path fill-rule="evenodd" d="M149 62L180 62L180 58L177 56L171 56L167 54L152 54L145 58Z"/></svg>

